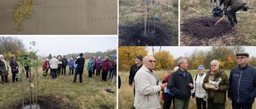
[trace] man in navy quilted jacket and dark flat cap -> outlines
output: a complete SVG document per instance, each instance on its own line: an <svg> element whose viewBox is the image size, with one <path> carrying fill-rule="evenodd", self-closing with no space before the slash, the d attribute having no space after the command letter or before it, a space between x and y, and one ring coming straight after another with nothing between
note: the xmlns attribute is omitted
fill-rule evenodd
<svg viewBox="0 0 256 109"><path fill-rule="evenodd" d="M233 109L251 109L256 97L256 69L247 64L249 54L238 53L238 66L230 72L228 99Z"/></svg>

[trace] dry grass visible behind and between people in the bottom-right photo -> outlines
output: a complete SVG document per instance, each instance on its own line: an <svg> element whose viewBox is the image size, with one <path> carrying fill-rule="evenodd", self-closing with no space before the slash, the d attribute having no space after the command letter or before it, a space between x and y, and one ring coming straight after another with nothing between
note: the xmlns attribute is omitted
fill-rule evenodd
<svg viewBox="0 0 256 109"><path fill-rule="evenodd" d="M168 74L167 71L156 71L157 75L160 80L163 80L163 78ZM197 74L196 70L189 70L191 75L194 77L195 74ZM227 76L230 75L230 70L225 70ZM118 90L118 108L119 109L133 109L134 108L134 89L129 86L128 84L128 78L129 78L129 72L118 72L119 76L122 80L122 86ZM162 95L162 91L160 93ZM161 100L161 105L163 104L163 101ZM173 106L171 106L173 108ZM190 106L189 109L196 109L196 102L195 99L190 98ZM226 109L231 109L231 102L227 100L226 102ZM256 103L253 105L253 109L256 109Z"/></svg>

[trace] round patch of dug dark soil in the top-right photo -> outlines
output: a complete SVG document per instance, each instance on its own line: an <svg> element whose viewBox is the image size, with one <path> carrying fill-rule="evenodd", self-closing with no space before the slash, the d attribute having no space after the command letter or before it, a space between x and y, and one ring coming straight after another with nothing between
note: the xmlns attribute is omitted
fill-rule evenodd
<svg viewBox="0 0 256 109"><path fill-rule="evenodd" d="M198 39L209 39L232 33L232 28L227 26L229 23L225 19L214 25L219 19L206 17L188 19L181 25L181 31L191 37L198 37Z"/></svg>

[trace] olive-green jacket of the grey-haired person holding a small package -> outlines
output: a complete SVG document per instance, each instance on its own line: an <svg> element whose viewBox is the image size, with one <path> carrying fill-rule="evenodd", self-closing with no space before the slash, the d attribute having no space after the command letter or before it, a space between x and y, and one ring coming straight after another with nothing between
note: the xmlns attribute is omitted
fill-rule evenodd
<svg viewBox="0 0 256 109"><path fill-rule="evenodd" d="M206 72L206 77L203 80L202 88L206 90L205 84L209 83L209 76L210 72ZM214 103L226 103L226 91L229 90L230 84L228 80L228 76L226 76L226 73L220 69L218 69L218 72L215 74L214 81L218 82L219 78L222 79L222 81L218 84L218 91L214 90L206 90L208 92L208 99L210 99L210 94L214 93Z"/></svg>

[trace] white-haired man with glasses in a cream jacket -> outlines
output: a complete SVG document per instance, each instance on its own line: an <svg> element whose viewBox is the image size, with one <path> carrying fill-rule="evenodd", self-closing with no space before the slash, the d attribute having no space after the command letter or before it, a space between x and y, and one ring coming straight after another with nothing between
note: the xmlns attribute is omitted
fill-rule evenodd
<svg viewBox="0 0 256 109"><path fill-rule="evenodd" d="M155 67L154 56L145 56L142 68L134 77L136 109L161 108L158 92L166 87L166 84L159 83L158 76L153 71Z"/></svg>

